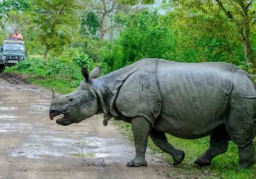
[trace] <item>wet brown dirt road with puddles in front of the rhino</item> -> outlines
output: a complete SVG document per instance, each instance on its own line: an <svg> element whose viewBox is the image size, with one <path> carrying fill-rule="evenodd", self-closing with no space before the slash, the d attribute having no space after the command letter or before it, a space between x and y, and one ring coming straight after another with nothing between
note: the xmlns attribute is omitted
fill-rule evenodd
<svg viewBox="0 0 256 179"><path fill-rule="evenodd" d="M134 146L113 123L57 125L50 101L48 90L0 74L0 178L165 178L149 153L149 167L125 167Z"/></svg>

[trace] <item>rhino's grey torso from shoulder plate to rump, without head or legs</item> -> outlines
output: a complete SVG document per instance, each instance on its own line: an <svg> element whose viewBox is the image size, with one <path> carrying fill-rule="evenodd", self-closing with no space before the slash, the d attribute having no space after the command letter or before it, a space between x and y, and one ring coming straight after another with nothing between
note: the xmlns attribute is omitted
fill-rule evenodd
<svg viewBox="0 0 256 179"><path fill-rule="evenodd" d="M152 127L181 138L206 136L225 123L234 92L256 96L246 72L229 63L143 59L132 66L136 70L116 98L118 111L126 117L144 116Z"/></svg>

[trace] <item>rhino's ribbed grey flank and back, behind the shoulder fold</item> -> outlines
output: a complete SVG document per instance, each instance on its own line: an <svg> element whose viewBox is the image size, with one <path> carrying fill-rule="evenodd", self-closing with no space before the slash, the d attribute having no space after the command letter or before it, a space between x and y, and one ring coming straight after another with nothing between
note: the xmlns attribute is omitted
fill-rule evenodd
<svg viewBox="0 0 256 179"><path fill-rule="evenodd" d="M168 65L170 64L170 65ZM239 72L239 74L237 74ZM255 96L255 87L244 70L229 63L158 63L157 79L162 110L156 128L181 138L206 136L226 123L228 102L234 87L243 85L245 96ZM248 85L250 84L250 85ZM241 89L237 89L237 92Z"/></svg>

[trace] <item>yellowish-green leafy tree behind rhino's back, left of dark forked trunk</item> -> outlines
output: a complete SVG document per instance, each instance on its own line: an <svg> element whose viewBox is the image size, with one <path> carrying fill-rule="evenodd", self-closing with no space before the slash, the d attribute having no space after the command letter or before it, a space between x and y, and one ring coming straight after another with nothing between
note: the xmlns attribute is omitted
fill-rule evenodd
<svg viewBox="0 0 256 179"><path fill-rule="evenodd" d="M243 44L235 25L215 6L186 1L166 12L170 30L176 30L176 60L225 61L244 64ZM195 2L195 1L194 1ZM247 70L247 68L246 68Z"/></svg>

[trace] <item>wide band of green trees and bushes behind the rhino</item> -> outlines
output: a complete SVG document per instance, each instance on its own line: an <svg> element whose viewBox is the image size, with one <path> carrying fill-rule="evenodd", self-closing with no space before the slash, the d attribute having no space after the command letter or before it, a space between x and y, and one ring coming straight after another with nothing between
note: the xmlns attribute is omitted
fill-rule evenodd
<svg viewBox="0 0 256 179"><path fill-rule="evenodd" d="M6 14L1 16L0 40L18 28L26 39L28 54L44 54L67 63L84 54L104 66L104 73L143 58L225 61L249 71L252 66L244 56L237 26L221 13L217 3L167 1L155 8L130 8L120 4L122 1L47 2L0 3L1 13ZM251 26L250 43L255 40ZM252 50L254 53L254 45Z"/></svg>

